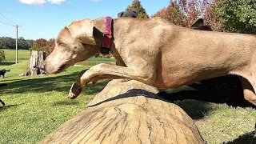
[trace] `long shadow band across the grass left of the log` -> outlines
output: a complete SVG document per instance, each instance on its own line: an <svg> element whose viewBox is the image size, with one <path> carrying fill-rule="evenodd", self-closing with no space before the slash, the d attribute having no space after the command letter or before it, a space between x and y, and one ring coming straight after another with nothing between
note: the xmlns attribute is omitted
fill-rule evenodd
<svg viewBox="0 0 256 144"><path fill-rule="evenodd" d="M7 86L2 88L0 94L21 94L21 93L42 93L49 91L66 92L70 90L70 86L76 81L79 72L65 74L56 77L40 78L34 76L32 79L24 79L13 82L6 82ZM98 82L95 86L88 84L83 93L96 94L106 86L106 81Z"/></svg>

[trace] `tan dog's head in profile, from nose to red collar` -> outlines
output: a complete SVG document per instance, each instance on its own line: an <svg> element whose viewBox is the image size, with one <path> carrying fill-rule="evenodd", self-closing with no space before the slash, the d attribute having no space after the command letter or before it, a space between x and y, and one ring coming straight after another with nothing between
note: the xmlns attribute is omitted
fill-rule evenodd
<svg viewBox="0 0 256 144"><path fill-rule="evenodd" d="M57 74L97 54L94 25L90 19L82 19L65 26L55 40L54 51L41 68L47 74Z"/></svg>

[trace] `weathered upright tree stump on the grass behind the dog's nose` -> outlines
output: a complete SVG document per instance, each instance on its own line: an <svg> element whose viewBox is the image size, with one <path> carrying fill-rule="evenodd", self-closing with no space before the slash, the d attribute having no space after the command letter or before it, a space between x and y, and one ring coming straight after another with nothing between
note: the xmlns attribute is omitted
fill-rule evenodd
<svg viewBox="0 0 256 144"><path fill-rule="evenodd" d="M20 77L28 75L38 75L45 74L43 70L40 69L42 62L46 59L46 52L44 51L31 51L30 64L26 71L19 74Z"/></svg>

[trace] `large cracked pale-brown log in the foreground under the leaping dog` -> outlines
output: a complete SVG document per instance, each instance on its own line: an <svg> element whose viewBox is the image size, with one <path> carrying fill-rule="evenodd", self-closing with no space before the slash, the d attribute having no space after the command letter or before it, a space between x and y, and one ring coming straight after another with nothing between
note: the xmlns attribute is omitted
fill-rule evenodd
<svg viewBox="0 0 256 144"><path fill-rule="evenodd" d="M41 143L204 143L184 110L134 80L112 80L85 110Z"/></svg>

